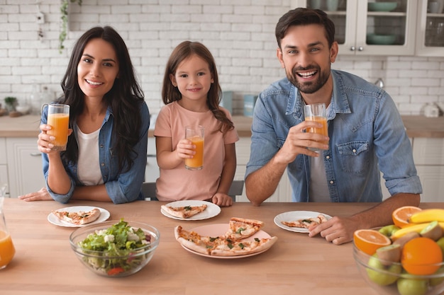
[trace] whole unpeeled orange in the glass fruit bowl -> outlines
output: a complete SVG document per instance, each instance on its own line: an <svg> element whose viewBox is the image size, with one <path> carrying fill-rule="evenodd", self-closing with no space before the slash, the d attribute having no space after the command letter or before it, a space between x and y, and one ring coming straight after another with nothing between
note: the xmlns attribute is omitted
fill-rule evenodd
<svg viewBox="0 0 444 295"><path fill-rule="evenodd" d="M431 238L414 238L408 241L401 253L401 264L409 274L435 273L443 262L443 251Z"/></svg>

